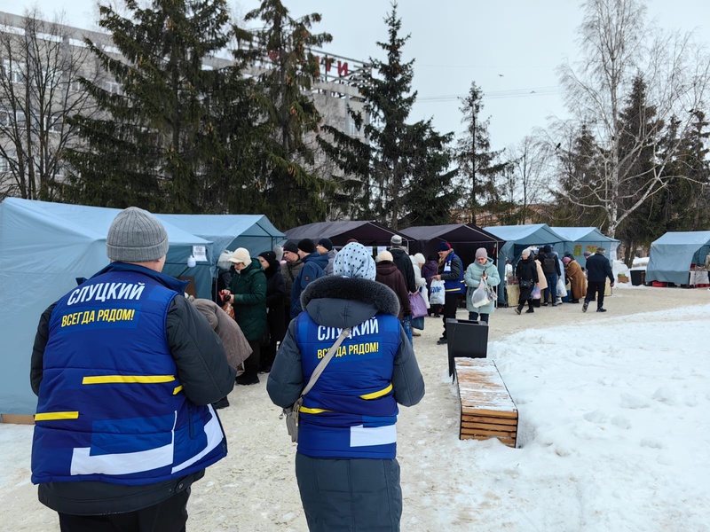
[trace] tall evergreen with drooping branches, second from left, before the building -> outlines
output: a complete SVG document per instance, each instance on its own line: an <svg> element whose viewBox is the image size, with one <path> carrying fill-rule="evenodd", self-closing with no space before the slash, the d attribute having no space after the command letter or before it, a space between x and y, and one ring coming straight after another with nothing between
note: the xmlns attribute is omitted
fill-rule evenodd
<svg viewBox="0 0 710 532"><path fill-rule="evenodd" d="M320 114L310 92L319 76L312 47L329 43L327 33L312 34L318 13L298 20L280 0L263 0L245 20L261 20L262 29L239 31L246 48L237 52L258 72L256 106L269 136L263 145L259 188L265 214L273 223L294 227L325 219L333 184L312 170Z"/></svg>

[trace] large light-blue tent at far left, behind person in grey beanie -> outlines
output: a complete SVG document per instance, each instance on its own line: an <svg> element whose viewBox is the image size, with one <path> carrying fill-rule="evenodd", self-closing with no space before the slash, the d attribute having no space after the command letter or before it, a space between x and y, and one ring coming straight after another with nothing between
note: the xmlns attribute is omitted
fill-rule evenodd
<svg viewBox="0 0 710 532"><path fill-rule="evenodd" d="M29 360L44 309L108 264L106 234L120 209L7 198L0 203L0 414L32 414ZM211 242L170 223L167 261L184 268Z"/></svg>

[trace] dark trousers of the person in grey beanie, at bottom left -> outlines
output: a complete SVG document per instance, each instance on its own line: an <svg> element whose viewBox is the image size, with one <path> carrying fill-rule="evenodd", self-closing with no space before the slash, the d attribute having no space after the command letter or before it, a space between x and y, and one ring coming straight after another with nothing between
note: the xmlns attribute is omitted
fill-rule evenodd
<svg viewBox="0 0 710 532"><path fill-rule="evenodd" d="M190 489L142 510L108 515L59 513L61 532L185 532Z"/></svg>

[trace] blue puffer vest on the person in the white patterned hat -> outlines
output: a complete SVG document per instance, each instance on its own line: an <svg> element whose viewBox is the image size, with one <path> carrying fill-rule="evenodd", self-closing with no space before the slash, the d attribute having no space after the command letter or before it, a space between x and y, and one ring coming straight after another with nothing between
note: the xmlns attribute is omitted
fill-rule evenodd
<svg viewBox="0 0 710 532"><path fill-rule="evenodd" d="M307 382L341 330L297 318L296 342ZM304 396L298 452L314 458L395 458L398 406L392 361L399 320L377 314L352 328L312 390Z"/></svg>

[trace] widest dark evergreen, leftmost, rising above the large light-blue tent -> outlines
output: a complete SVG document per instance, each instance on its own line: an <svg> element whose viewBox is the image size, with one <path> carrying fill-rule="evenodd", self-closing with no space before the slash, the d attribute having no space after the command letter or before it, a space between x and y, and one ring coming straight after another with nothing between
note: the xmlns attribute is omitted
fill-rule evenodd
<svg viewBox="0 0 710 532"><path fill-rule="evenodd" d="M74 119L84 143L67 151L73 199L166 212L227 206L249 212L258 205L252 159L235 160L239 153L230 143L248 152L258 135L237 138L239 128L225 130L224 123L248 122L248 85L234 66L205 67L232 37L226 1L153 0L146 9L136 0L125 4L129 18L100 8L99 25L120 55L86 41L107 75L104 83L83 84L104 115Z"/></svg>

